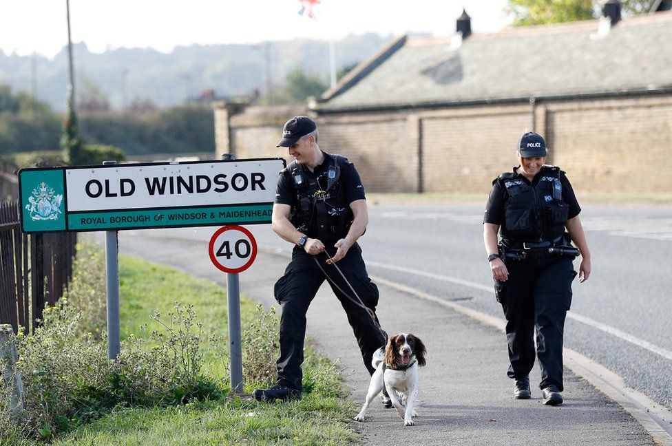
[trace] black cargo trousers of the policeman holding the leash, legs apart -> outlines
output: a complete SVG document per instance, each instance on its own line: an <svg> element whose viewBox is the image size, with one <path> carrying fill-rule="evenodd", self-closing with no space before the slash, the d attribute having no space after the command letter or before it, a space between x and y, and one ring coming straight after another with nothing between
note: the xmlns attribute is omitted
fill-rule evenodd
<svg viewBox="0 0 672 446"><path fill-rule="evenodd" d="M333 243L326 244L329 255L333 257L336 248ZM341 302L348 322L353 327L361 357L370 374L375 372L371 365L373 353L384 345L385 341L380 330L375 326L368 312L350 301L334 286L332 280L350 297L357 301L350 286L338 273L334 265L326 263L326 254L309 255L304 248L295 246L292 260L288 264L284 275L275 283L275 300L282 307L280 316L280 357L277 359L277 383L286 387L301 390L303 372L301 364L304 361L304 338L306 337L306 312L308 306L317 293L317 289L326 279L324 273L315 263L315 259L329 275L329 285ZM361 258L361 248L355 243L345 257L337 262L343 275L350 285L355 288L357 295L364 305L375 311L378 304L378 287L371 282L366 273L364 259ZM376 317L377 320L377 317Z"/></svg>

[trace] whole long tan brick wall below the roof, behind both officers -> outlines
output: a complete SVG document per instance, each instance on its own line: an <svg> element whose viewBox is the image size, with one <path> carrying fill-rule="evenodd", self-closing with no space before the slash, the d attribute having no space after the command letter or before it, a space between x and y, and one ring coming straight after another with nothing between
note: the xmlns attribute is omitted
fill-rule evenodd
<svg viewBox="0 0 672 446"><path fill-rule="evenodd" d="M237 158L286 156L282 124L306 110L255 108L229 118ZM670 95L326 114L317 125L319 147L355 162L367 191L487 193L517 164L525 129L580 193L672 191Z"/></svg>

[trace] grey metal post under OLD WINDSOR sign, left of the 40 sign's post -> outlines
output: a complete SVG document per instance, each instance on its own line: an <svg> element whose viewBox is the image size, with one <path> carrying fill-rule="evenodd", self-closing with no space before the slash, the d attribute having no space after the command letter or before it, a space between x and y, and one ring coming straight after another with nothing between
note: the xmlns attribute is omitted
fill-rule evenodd
<svg viewBox="0 0 672 446"><path fill-rule="evenodd" d="M103 165L117 164L103 161ZM105 231L105 278L107 284L107 359L116 361L121 350L119 330L119 231Z"/></svg>

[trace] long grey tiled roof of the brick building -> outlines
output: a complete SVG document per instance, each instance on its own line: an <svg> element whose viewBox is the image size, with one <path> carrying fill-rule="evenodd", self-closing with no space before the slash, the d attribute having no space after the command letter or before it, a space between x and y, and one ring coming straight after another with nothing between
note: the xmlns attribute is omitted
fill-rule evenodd
<svg viewBox="0 0 672 446"><path fill-rule="evenodd" d="M672 12L624 19L606 34L599 23L472 34L459 46L400 39L326 92L317 111L672 87Z"/></svg>

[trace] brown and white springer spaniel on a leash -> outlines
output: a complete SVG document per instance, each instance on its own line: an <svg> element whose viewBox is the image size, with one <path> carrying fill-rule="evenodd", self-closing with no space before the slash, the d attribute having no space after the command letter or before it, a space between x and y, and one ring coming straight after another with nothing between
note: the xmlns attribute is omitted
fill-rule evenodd
<svg viewBox="0 0 672 446"><path fill-rule="evenodd" d="M364 415L371 401L386 387L392 405L406 426L412 426L415 412L415 400L418 396L418 366L425 365L425 344L410 333L399 333L388 339L385 347L379 348L371 361L376 371L368 385L366 401L361 406L356 421L364 421ZM403 404L397 399L401 394ZM406 412L403 410L406 405Z"/></svg>

